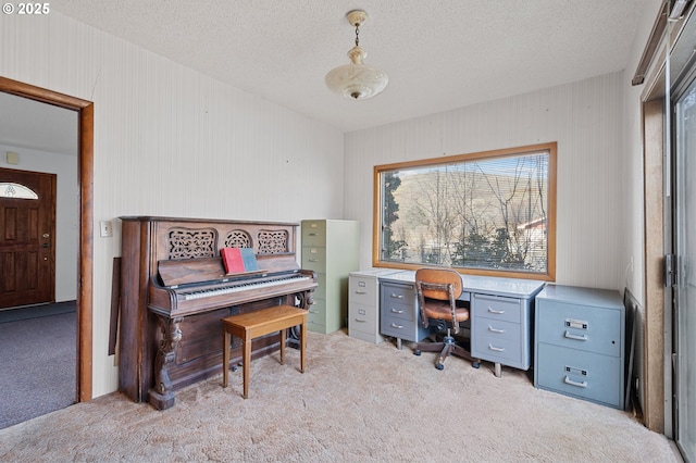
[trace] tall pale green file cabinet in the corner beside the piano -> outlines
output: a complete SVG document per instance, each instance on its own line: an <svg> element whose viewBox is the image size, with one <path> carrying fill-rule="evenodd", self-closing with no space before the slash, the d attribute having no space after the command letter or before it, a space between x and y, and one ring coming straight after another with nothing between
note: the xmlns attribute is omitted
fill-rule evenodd
<svg viewBox="0 0 696 463"><path fill-rule="evenodd" d="M348 274L359 267L356 221L302 221L302 268L316 272L319 287L309 308L307 327L328 334L346 326Z"/></svg>

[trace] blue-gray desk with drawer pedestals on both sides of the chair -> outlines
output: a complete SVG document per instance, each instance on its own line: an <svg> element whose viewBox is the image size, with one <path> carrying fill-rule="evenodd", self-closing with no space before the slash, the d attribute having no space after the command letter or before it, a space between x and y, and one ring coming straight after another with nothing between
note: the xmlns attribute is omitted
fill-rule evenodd
<svg viewBox="0 0 696 463"><path fill-rule="evenodd" d="M382 299L382 334L397 339L418 342L427 336L418 316L415 272L402 271L380 277ZM495 375L500 377L501 365L529 370L532 364L532 317L534 298L544 288L544 281L518 278L462 275L460 300L470 301L471 354L495 363ZM390 292L395 287L400 292ZM399 306L389 301L398 300ZM408 308L412 324L394 323L394 311ZM412 314L412 317L411 317ZM398 327L398 329L396 327Z"/></svg>

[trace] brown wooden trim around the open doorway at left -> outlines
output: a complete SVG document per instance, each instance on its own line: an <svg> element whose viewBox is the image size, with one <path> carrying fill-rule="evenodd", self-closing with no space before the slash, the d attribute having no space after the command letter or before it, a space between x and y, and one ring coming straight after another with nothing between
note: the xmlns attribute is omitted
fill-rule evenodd
<svg viewBox="0 0 696 463"><path fill-rule="evenodd" d="M77 280L77 393L76 400L91 400L92 389L92 264L94 264L94 138L95 103L17 80L0 77L0 91L77 111L79 148L79 246Z"/></svg>

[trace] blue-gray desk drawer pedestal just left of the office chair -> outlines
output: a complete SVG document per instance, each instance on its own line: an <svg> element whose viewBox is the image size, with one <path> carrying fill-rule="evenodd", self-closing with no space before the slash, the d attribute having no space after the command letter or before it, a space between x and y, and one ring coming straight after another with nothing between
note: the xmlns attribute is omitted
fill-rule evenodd
<svg viewBox="0 0 696 463"><path fill-rule="evenodd" d="M418 313L414 272L401 272L380 278L380 331L396 339L419 342L428 335Z"/></svg>

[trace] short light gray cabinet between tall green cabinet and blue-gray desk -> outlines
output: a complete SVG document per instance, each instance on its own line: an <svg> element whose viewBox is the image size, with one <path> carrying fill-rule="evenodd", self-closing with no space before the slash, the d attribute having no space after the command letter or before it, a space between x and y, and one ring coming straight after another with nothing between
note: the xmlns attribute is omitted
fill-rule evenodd
<svg viewBox="0 0 696 463"><path fill-rule="evenodd" d="M380 343L380 276L398 271L372 268L350 272L348 277L348 336Z"/></svg>

